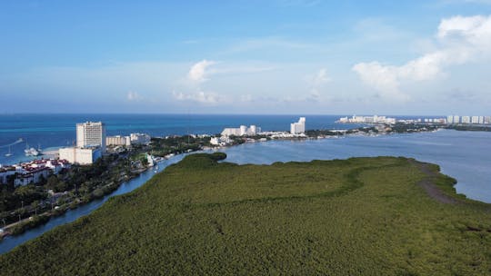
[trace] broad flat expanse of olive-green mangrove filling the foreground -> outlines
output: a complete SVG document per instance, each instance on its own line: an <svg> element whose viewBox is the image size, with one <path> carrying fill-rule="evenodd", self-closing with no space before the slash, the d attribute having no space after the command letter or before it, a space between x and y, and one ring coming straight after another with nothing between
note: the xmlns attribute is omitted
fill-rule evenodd
<svg viewBox="0 0 491 276"><path fill-rule="evenodd" d="M3 275L489 275L491 207L394 157L237 165L194 154L0 256ZM436 182L456 202L431 197Z"/></svg>

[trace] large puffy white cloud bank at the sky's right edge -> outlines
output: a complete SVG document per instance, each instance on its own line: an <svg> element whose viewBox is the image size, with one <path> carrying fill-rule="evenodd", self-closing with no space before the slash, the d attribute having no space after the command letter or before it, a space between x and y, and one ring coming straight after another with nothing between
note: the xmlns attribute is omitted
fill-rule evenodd
<svg viewBox="0 0 491 276"><path fill-rule="evenodd" d="M438 47L406 64L359 63L352 68L360 79L388 100L407 101L404 82L434 80L453 64L483 61L491 55L491 16L454 16L443 19L436 34Z"/></svg>

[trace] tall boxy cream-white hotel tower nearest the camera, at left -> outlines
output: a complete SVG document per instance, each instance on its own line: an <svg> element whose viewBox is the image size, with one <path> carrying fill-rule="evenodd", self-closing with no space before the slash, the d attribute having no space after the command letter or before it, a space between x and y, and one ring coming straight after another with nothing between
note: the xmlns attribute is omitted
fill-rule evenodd
<svg viewBox="0 0 491 276"><path fill-rule="evenodd" d="M100 146L102 153L105 153L105 123L77 123L76 146L79 148Z"/></svg>

